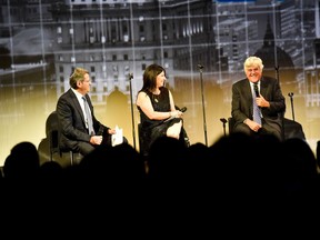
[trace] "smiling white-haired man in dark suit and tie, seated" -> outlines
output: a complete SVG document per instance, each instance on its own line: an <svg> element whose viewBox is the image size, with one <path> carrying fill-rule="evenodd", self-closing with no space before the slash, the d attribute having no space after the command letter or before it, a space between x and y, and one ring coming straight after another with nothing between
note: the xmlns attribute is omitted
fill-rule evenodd
<svg viewBox="0 0 320 240"><path fill-rule="evenodd" d="M279 81L262 76L263 64L260 58L247 58L243 68L247 78L232 86L233 132L243 132L249 136L273 134L282 140L282 116L286 110L286 99ZM258 106L261 122L253 120L253 104Z"/></svg>

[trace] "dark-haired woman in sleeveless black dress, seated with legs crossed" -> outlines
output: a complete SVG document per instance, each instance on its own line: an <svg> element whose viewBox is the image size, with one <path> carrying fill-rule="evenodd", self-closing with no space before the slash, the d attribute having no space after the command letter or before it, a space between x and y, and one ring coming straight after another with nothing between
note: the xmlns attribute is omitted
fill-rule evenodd
<svg viewBox="0 0 320 240"><path fill-rule="evenodd" d="M140 112L140 136L143 138L144 156L154 140L161 136L181 141L187 139L183 130L183 112L176 109L173 97L164 87L166 70L158 64L150 64L143 73L143 86L137 96L137 107Z"/></svg>

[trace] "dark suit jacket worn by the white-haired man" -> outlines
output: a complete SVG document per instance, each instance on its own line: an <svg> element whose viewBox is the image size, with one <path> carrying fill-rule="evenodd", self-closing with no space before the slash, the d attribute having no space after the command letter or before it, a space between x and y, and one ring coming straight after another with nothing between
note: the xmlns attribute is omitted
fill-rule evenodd
<svg viewBox="0 0 320 240"><path fill-rule="evenodd" d="M270 102L270 108L261 108L263 119L269 126L281 130L282 114L286 110L286 99L277 79L262 77L260 80L260 93ZM244 119L252 120L252 93L249 80L242 79L232 86L232 110L234 128Z"/></svg>

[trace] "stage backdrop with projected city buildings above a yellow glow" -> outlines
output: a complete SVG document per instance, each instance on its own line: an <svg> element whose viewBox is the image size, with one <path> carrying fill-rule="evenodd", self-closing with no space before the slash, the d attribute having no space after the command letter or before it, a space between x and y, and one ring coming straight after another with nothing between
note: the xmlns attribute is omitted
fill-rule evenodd
<svg viewBox="0 0 320 240"><path fill-rule="evenodd" d="M254 54L280 81L286 118L302 124L313 150L320 139L319 0L6 0L0 8L0 166L16 143L46 139L76 67L90 72L98 119L119 124L139 149L137 92L146 67L161 64L176 103L188 109L191 143L212 144L231 116L231 86Z"/></svg>

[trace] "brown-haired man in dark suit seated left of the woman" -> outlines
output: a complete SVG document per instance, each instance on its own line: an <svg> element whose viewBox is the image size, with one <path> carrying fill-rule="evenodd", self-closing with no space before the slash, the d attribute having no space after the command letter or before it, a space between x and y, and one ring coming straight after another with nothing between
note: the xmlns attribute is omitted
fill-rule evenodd
<svg viewBox="0 0 320 240"><path fill-rule="evenodd" d="M57 103L61 131L59 146L86 156L101 143L111 144L111 136L116 130L103 126L94 117L88 96L91 86L88 70L76 68L69 80L71 88ZM128 142L126 138L123 141Z"/></svg>

